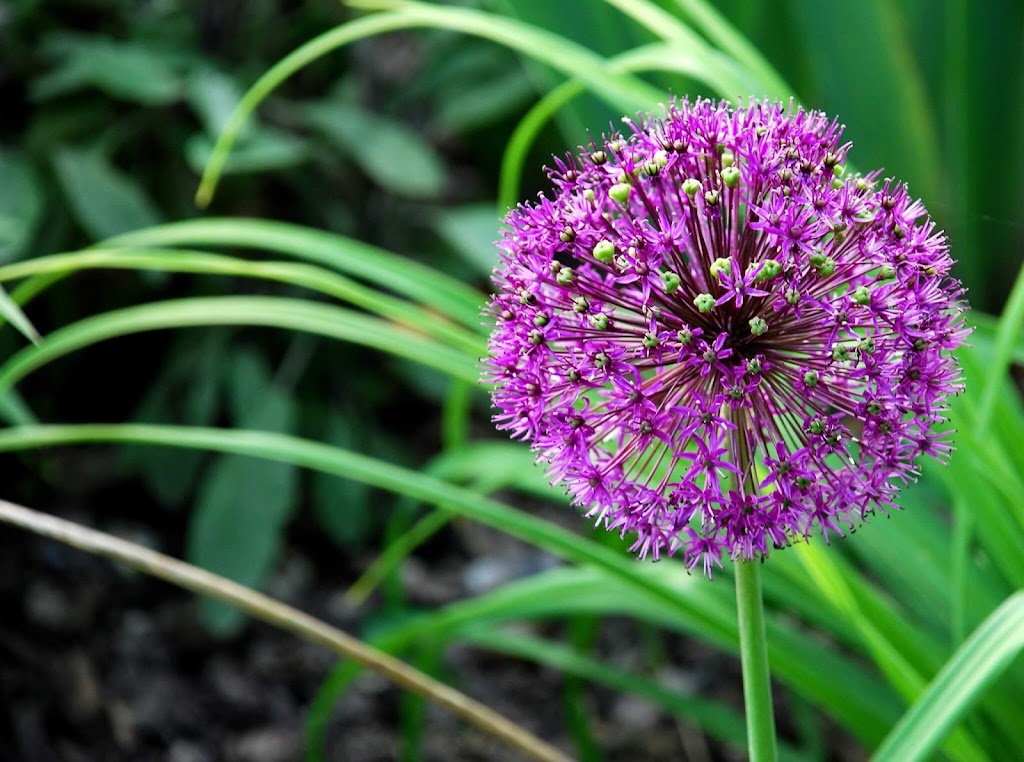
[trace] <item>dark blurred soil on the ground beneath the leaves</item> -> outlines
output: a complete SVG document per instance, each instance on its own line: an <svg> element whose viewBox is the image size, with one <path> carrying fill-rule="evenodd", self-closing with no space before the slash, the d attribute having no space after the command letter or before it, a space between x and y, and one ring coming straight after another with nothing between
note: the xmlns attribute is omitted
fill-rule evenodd
<svg viewBox="0 0 1024 762"><path fill-rule="evenodd" d="M5 472L11 465L0 460ZM118 490L88 499L51 496L55 504L32 507L180 556L183 517L141 507L144 497L130 485L127 493ZM112 507L117 505L125 507ZM564 514L559 518L574 520ZM379 606L352 611L341 594L371 558L342 553L300 517L268 591L358 634L380 616ZM462 526L414 558L403 583L411 606L434 607L472 595L481 575L500 580L552 563L504 536ZM300 760L307 709L336 664L326 650L260 624L233 639L214 639L200 625L189 594L3 525L0 606L2 762ZM561 634L558 625L543 627L544 635ZM650 663L652 635L662 662L673 665L658 672L666 684L741 706L737 666L700 644L657 640L632 623L611 621L602 624L596 649L636 668ZM440 674L574 753L558 672L457 645L445 650ZM594 739L608 762L743 757L645 702L594 686L584 691ZM402 759L401 707L399 690L364 674L335 708L326 758ZM420 759L522 757L428 707Z"/></svg>

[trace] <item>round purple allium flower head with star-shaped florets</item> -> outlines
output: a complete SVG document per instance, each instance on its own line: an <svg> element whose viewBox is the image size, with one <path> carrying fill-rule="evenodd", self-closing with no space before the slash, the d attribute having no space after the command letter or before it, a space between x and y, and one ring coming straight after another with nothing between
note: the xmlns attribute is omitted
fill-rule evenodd
<svg viewBox="0 0 1024 762"><path fill-rule="evenodd" d="M968 330L945 237L823 114L686 100L507 217L495 421L574 503L711 573L887 511Z"/></svg>

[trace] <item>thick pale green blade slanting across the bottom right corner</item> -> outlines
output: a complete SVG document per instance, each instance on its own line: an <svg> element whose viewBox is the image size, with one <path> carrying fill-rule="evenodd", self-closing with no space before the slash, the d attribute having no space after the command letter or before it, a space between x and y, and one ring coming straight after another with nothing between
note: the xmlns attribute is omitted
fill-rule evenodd
<svg viewBox="0 0 1024 762"><path fill-rule="evenodd" d="M1000 605L953 654L876 751L876 762L931 759L942 739L1024 648L1024 592Z"/></svg>

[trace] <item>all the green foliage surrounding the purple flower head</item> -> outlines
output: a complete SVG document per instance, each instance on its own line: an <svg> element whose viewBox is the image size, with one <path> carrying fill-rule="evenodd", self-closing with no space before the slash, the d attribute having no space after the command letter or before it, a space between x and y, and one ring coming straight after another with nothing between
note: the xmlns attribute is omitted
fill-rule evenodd
<svg viewBox="0 0 1024 762"><path fill-rule="evenodd" d="M543 187L546 154L670 90L799 96L848 125L858 165L909 179L987 311L961 351L948 468L855 538L765 565L773 674L878 759L1024 758L1019 3L394 0L341 26L333 4L289 25L263 5L224 22L234 43L174 3L82 4L89 35L27 4L0 29L24 85L2 91L24 116L0 127L0 315L32 338L46 327L38 345L0 333L0 451L116 442L157 503L184 510L189 558L251 586L304 512L342 552L378 554L360 596L453 516L488 524L565 565L395 618L378 645L427 663L455 642L514 654L741 743L733 708L602 661L589 637L509 627L626 617L736 649L728 575L638 564L614 538L507 504L565 500L523 447L481 434L479 314L498 200ZM201 171L220 216L189 219ZM69 397L60 379L100 372L100 342L133 362L102 371L108 396ZM35 422L106 415L135 423ZM382 538L389 517L409 532ZM244 624L203 611L221 635ZM309 759L354 676L339 668L314 702ZM821 758L819 720L784 758Z"/></svg>

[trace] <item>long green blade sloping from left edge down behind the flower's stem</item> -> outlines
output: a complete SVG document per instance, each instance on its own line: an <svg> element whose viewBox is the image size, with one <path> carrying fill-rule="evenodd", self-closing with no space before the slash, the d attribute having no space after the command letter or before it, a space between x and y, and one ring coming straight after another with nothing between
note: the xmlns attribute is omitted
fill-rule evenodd
<svg viewBox="0 0 1024 762"><path fill-rule="evenodd" d="M261 431L142 424L31 426L0 431L0 452L86 441L193 448L267 458L443 505L562 558L594 567L599 572L593 580L595 602L622 606L646 600L648 616L659 616L709 642L736 648L735 609L725 579L710 583L693 578L678 563L639 563L551 522L391 463ZM535 605L549 604L552 616L564 612L565 598L539 599L535 595L532 601ZM828 711L863 743L881 739L897 711L891 691L828 648L808 642L780 619L769 620L768 641L772 669L780 680ZM842 680L837 679L840 674Z"/></svg>

